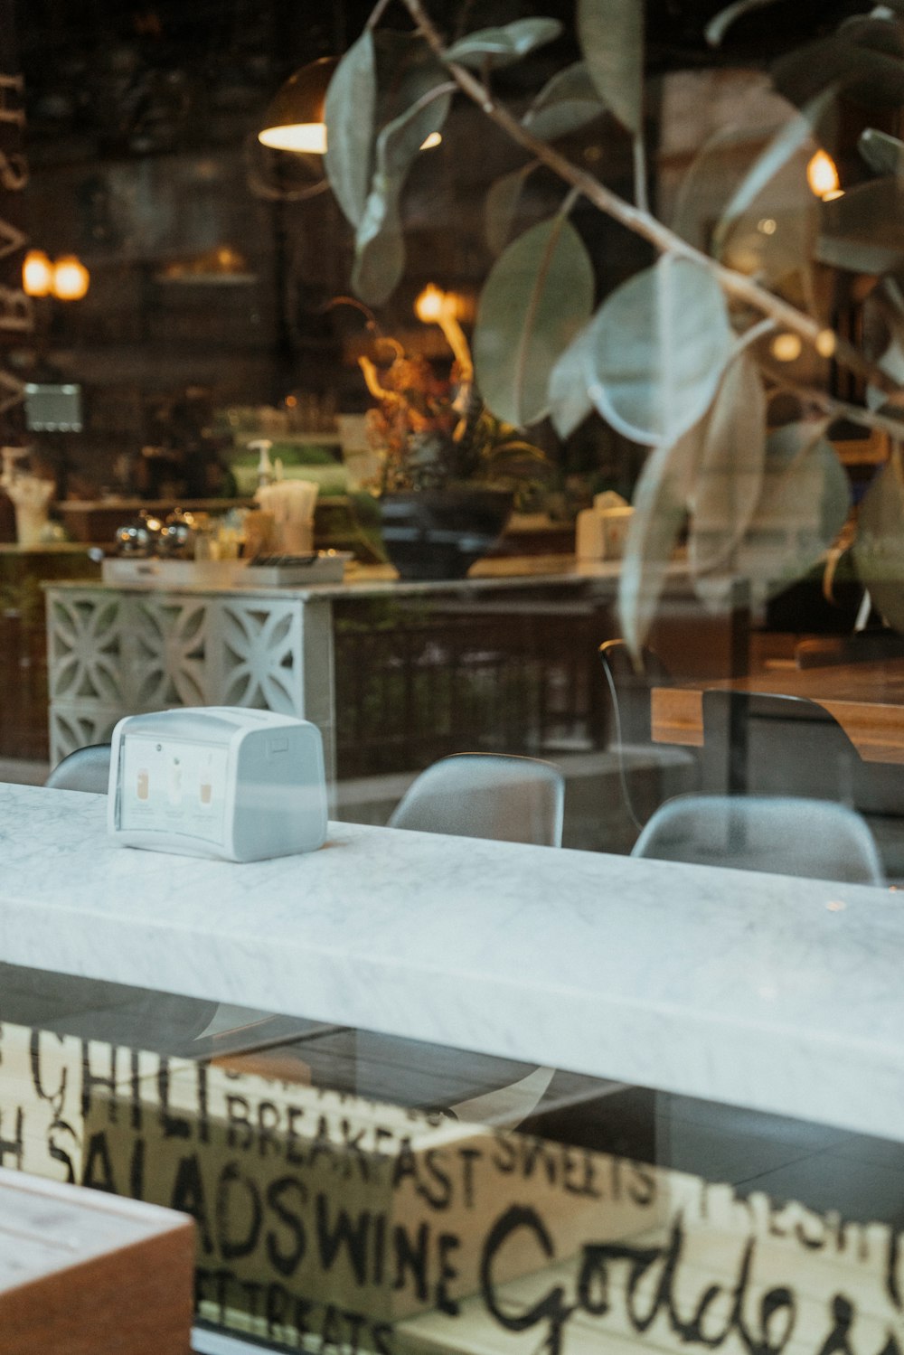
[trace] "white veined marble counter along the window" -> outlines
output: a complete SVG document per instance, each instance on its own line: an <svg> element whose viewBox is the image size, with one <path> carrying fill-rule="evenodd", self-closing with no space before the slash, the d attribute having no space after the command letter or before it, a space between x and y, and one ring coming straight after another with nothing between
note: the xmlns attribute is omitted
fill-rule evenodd
<svg viewBox="0 0 904 1355"><path fill-rule="evenodd" d="M0 787L0 958L904 1140L904 900L332 824L230 864Z"/></svg>

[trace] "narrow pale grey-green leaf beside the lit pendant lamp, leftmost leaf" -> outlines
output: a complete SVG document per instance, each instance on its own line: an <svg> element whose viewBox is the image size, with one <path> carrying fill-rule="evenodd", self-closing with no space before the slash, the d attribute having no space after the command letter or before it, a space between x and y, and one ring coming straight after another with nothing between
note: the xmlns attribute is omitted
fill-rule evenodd
<svg viewBox="0 0 904 1355"><path fill-rule="evenodd" d="M325 169L352 226L365 214L373 163L377 76L374 41L365 28L336 66L327 89Z"/></svg>

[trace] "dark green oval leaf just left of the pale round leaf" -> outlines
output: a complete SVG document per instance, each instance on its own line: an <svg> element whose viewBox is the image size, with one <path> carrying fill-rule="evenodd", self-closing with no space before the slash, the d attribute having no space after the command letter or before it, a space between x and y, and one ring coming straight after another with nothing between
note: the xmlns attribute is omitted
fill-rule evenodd
<svg viewBox="0 0 904 1355"><path fill-rule="evenodd" d="M531 226L496 260L477 310L474 369L497 419L542 419L553 366L592 305L590 256L561 214Z"/></svg>

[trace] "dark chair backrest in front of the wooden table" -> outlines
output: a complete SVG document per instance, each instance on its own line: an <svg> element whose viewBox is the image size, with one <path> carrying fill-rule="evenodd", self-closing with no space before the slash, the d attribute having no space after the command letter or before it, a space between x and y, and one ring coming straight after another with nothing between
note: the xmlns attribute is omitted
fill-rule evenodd
<svg viewBox="0 0 904 1355"><path fill-rule="evenodd" d="M747 691L703 692L702 789L855 802L861 756L815 701Z"/></svg>

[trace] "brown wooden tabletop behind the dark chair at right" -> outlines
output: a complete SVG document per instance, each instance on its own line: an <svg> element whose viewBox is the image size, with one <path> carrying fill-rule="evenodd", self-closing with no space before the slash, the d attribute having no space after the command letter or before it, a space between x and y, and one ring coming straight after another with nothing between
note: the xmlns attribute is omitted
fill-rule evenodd
<svg viewBox="0 0 904 1355"><path fill-rule="evenodd" d="M865 762L904 764L904 660L832 664L825 668L771 665L748 678L694 687L655 687L653 740L703 744L703 687L805 696L844 729Z"/></svg>

